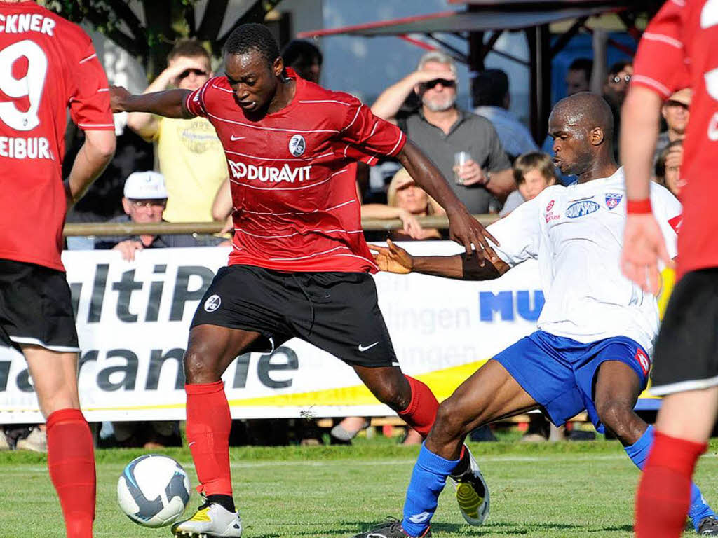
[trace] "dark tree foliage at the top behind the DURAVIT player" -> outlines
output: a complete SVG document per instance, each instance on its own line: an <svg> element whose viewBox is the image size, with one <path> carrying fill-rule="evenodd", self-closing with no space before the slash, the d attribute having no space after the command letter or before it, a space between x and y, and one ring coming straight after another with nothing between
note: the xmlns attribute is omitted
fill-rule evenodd
<svg viewBox="0 0 718 538"><path fill-rule="evenodd" d="M202 19L195 16L197 0L45 0L48 9L73 22L85 22L136 57L151 77L162 70L167 53L178 39L200 39L217 55L231 29L245 22L262 22L280 0L256 0L244 13L228 12L229 0L208 0ZM226 16L236 17L219 35Z"/></svg>

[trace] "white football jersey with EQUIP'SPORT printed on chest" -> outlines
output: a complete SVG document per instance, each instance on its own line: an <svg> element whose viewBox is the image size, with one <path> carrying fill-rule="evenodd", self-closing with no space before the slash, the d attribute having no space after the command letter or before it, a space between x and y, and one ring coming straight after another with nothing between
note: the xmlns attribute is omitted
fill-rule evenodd
<svg viewBox="0 0 718 538"><path fill-rule="evenodd" d="M681 204L656 183L651 204L674 258ZM628 336L651 353L658 305L621 273L625 217L622 167L606 178L549 187L488 227L511 267L538 260L546 299L538 329L584 344Z"/></svg>

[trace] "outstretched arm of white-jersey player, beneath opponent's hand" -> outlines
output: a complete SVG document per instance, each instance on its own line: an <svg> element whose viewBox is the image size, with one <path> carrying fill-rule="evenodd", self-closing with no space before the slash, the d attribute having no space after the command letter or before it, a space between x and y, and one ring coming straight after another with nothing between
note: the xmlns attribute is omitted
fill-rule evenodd
<svg viewBox="0 0 718 538"><path fill-rule="evenodd" d="M473 255L467 256L466 253L454 256L412 256L391 240L386 243L388 247L369 245L369 248L376 252L374 259L379 268L389 273L423 273L458 280L493 280L510 269L499 258L493 263L479 265Z"/></svg>

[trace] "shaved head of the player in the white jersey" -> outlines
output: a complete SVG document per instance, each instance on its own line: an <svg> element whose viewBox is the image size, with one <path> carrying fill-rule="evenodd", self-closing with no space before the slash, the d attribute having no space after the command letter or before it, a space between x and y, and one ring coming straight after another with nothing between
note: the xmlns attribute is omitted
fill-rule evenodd
<svg viewBox="0 0 718 538"><path fill-rule="evenodd" d="M581 92L556 103L549 136L554 138L554 164L564 174L579 176L579 181L593 176L592 171L615 166L613 115L600 95Z"/></svg>

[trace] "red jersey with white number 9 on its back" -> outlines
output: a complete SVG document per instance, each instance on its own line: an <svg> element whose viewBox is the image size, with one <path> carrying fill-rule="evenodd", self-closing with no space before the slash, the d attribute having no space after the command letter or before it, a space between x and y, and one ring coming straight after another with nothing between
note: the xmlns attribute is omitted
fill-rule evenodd
<svg viewBox="0 0 718 538"><path fill-rule="evenodd" d="M90 37L34 1L0 2L0 258L65 270L68 107L84 131L113 129Z"/></svg>

